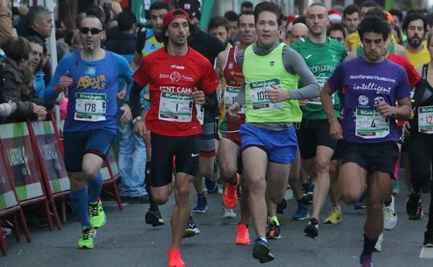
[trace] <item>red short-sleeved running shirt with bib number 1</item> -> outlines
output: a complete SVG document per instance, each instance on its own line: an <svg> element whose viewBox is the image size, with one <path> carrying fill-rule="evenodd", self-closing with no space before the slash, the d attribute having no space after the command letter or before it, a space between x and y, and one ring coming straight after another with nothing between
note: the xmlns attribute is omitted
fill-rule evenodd
<svg viewBox="0 0 433 267"><path fill-rule="evenodd" d="M217 74L203 55L189 47L186 55L174 56L162 47L144 57L134 80L142 87L149 84L148 130L167 136L201 133L195 105L188 98L198 88L212 94L218 87ZM176 100L180 98L183 100Z"/></svg>

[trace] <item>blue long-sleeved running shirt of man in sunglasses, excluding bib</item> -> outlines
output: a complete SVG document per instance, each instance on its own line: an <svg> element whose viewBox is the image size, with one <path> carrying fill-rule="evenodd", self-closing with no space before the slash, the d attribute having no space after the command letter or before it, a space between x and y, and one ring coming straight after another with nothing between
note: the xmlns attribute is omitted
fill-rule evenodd
<svg viewBox="0 0 433 267"><path fill-rule="evenodd" d="M55 87L60 77L69 71L69 77L74 83L69 87L67 104L67 117L65 119L65 132L78 132L85 130L117 130L117 100L119 78L126 80L128 94L133 84L133 70L128 61L121 55L105 51L105 58L97 61L85 61L80 56L80 50L65 55L60 60L56 73L44 92L46 101L53 101L58 94ZM105 94L105 120L103 121L77 121L76 93Z"/></svg>

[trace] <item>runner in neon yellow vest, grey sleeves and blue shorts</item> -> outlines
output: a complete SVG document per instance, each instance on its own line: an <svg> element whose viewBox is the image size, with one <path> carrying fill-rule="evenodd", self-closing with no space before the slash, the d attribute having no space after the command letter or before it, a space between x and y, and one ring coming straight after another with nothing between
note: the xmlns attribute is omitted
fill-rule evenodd
<svg viewBox="0 0 433 267"><path fill-rule="evenodd" d="M280 7L271 2L259 3L254 17L257 44L237 54L245 87L239 89L229 112L237 116L246 98L246 123L240 128L242 162L257 236L253 257L264 263L274 259L265 237L265 195L275 205L280 203L298 146L294 122L300 121L302 114L298 101L291 99L316 97L319 85L303 58L278 42ZM306 86L296 90L299 77Z"/></svg>

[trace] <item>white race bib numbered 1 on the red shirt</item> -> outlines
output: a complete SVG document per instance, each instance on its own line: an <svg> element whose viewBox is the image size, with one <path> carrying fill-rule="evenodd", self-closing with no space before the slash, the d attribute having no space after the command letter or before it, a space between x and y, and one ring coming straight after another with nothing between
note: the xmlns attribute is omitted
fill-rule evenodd
<svg viewBox="0 0 433 267"><path fill-rule="evenodd" d="M191 94L178 94L162 91L158 119L162 121L191 122Z"/></svg>

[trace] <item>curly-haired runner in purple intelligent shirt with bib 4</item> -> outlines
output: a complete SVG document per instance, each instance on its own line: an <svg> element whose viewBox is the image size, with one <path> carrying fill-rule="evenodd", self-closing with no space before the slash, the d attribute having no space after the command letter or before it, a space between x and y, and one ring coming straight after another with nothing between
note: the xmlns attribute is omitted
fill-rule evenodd
<svg viewBox="0 0 433 267"><path fill-rule="evenodd" d="M400 131L395 119L409 119L410 90L405 70L385 59L391 28L379 17L359 24L362 57L341 63L321 92L330 135L343 139L339 182L341 197L353 204L367 187L367 218L361 266L373 266L371 253L383 228L382 209L391 194L391 178L398 159ZM334 114L332 94L343 100L343 121ZM398 106L395 103L398 102Z"/></svg>

